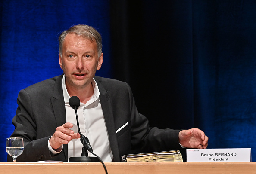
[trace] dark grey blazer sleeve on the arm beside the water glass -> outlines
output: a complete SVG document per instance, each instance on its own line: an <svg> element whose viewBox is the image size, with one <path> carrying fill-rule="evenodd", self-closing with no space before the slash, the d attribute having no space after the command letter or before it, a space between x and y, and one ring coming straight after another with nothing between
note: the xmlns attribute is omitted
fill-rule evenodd
<svg viewBox="0 0 256 174"><path fill-rule="evenodd" d="M17 161L52 159L54 155L48 149L50 136L37 139L37 123L33 116L31 98L26 90L19 92L17 103L16 115L12 119L15 130L11 137L22 137L24 141L24 151L18 156ZM12 157L8 156L7 161L12 161Z"/></svg>

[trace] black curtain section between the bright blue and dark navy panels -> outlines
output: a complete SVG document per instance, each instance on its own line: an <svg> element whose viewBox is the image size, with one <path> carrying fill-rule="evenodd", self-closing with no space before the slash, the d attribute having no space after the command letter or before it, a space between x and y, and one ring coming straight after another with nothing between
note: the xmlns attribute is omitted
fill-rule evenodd
<svg viewBox="0 0 256 174"><path fill-rule="evenodd" d="M191 7L190 1L122 1L120 15L111 16L114 78L131 85L152 126L194 126Z"/></svg>

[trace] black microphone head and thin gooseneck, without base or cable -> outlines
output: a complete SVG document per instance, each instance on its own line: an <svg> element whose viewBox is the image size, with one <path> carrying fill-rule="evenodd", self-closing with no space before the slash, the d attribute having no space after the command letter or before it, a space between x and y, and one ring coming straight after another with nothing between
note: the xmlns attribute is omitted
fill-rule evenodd
<svg viewBox="0 0 256 174"><path fill-rule="evenodd" d="M79 127L79 121L78 121L78 115L77 115L77 109L80 107L80 99L77 96L72 96L69 98L69 105L75 110L75 116L76 116L76 122L77 122L77 129L78 133L80 134L80 140L82 144L86 147L86 149L89 152L93 152L92 147L90 145L90 142L87 137L85 137L83 134L80 132L80 127Z"/></svg>

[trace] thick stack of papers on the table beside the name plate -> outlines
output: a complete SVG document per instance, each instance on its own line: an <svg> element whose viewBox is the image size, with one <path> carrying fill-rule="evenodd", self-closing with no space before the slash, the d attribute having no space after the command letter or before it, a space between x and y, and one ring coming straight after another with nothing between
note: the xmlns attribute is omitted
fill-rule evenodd
<svg viewBox="0 0 256 174"><path fill-rule="evenodd" d="M122 156L122 162L182 162L180 150Z"/></svg>

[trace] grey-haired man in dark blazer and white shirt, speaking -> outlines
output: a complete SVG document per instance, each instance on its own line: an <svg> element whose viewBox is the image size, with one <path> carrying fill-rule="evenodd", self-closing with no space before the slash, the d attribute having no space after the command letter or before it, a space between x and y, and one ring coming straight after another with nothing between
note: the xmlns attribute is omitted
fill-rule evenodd
<svg viewBox="0 0 256 174"><path fill-rule="evenodd" d="M68 161L81 156L75 111L69 106L74 95L81 101L81 133L105 162L120 161L122 155L137 150L207 147L208 137L197 128L150 128L147 118L138 113L127 83L94 76L102 62L101 36L93 27L76 25L60 34L59 65L64 74L19 92L11 135L24 139L24 152L17 161Z"/></svg>

